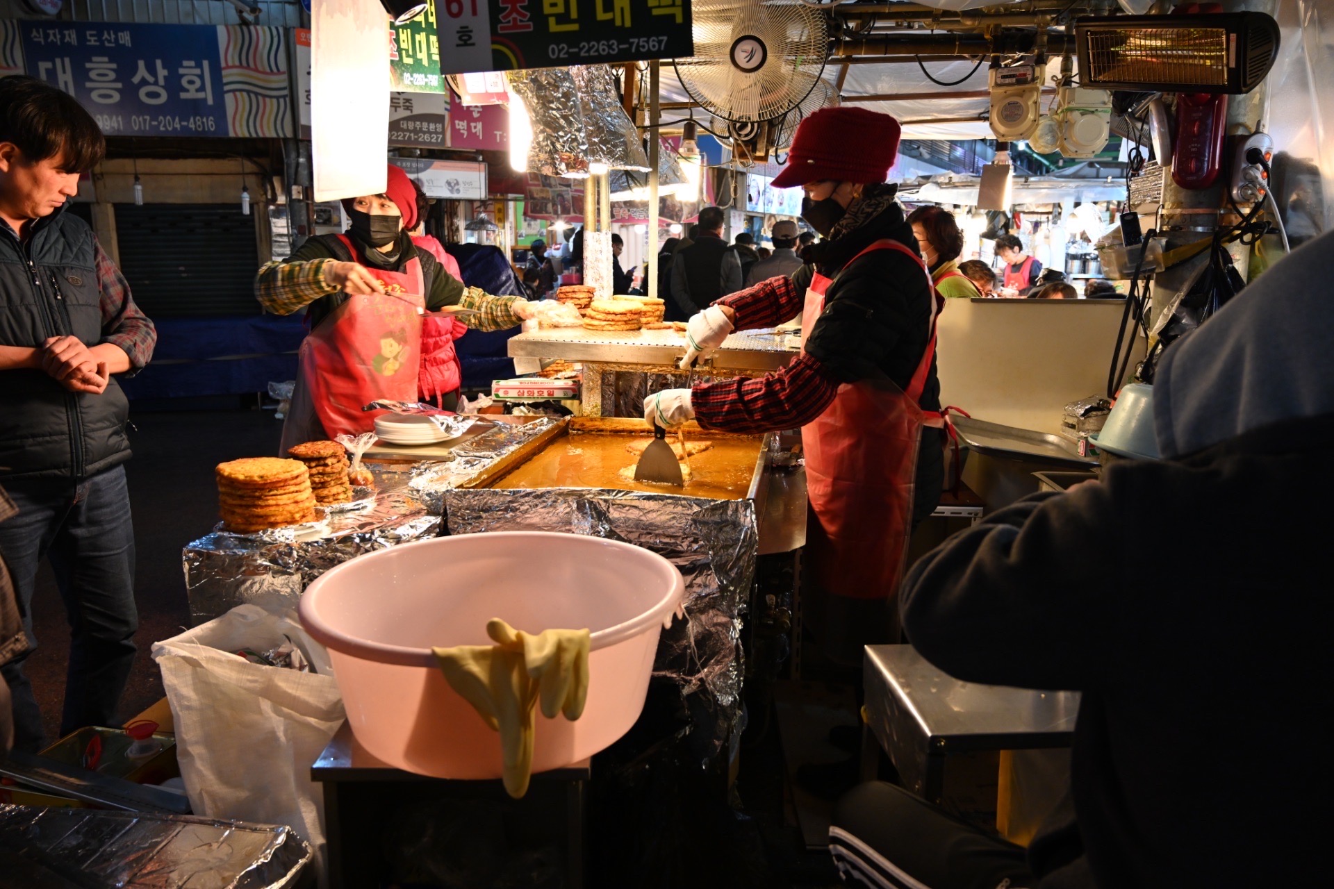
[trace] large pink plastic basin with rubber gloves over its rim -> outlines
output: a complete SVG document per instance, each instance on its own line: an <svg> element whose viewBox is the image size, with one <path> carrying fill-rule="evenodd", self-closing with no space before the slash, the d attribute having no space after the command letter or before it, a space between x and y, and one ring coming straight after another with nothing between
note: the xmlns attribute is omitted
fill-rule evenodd
<svg viewBox="0 0 1334 889"><path fill-rule="evenodd" d="M329 650L356 740L384 762L440 778L500 777L500 736L455 694L431 646L491 645L486 625L592 632L588 702L571 722L536 712L534 772L578 762L644 706L663 622L684 594L676 568L630 544L498 532L394 546L344 562L301 597Z"/></svg>

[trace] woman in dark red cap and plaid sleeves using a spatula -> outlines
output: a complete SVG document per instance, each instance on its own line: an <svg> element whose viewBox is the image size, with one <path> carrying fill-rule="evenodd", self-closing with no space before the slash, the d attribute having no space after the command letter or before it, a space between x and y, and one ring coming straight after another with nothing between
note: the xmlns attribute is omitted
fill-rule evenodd
<svg viewBox="0 0 1334 889"><path fill-rule="evenodd" d="M690 321L684 364L734 329L802 317L804 348L762 379L667 389L644 400L659 425L802 428L812 521L807 600L822 648L859 664L862 645L890 641L888 608L908 532L940 498L938 303L912 227L886 184L899 124L863 108L826 108L802 121L776 188L806 189L802 216L823 236L807 265L723 297ZM812 613L812 610L815 613Z"/></svg>

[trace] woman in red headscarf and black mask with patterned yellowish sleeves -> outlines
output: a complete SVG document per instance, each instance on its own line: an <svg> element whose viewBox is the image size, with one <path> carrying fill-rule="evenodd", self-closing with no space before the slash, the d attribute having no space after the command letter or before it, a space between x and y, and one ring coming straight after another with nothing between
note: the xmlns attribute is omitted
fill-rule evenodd
<svg viewBox="0 0 1334 889"><path fill-rule="evenodd" d="M303 441L370 432L378 415L362 408L371 401L418 400L423 311L476 309L470 324L482 331L532 317L526 300L466 288L412 244L416 189L398 167L388 167L383 193L343 199L343 209L352 221L347 232L307 239L255 277L264 308L276 315L304 308L311 329L283 424L283 453Z"/></svg>

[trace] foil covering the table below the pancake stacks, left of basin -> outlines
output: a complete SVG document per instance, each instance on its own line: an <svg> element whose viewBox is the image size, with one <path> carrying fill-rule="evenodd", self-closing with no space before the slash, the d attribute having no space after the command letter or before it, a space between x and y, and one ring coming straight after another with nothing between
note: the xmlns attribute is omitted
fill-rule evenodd
<svg viewBox="0 0 1334 889"><path fill-rule="evenodd" d="M211 533L181 552L191 626L252 602L285 613L307 584L363 553L435 537L440 518L408 488L406 473L372 470L367 508L325 517L317 533L279 528L259 534Z"/></svg>

